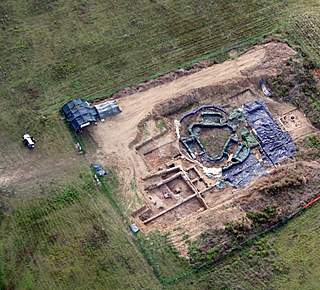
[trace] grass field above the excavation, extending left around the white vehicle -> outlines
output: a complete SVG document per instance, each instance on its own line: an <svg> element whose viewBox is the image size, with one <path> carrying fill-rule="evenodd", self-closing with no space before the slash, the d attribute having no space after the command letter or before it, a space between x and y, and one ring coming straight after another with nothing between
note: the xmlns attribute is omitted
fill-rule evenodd
<svg viewBox="0 0 320 290"><path fill-rule="evenodd" d="M296 31L303 13L316 18L316 4L315 0L2 1L0 160L24 162L19 141L26 130L41 141L43 157L61 154L70 140L57 111L73 97L107 97L200 59L221 61L231 48L248 47L287 22ZM317 36L317 22L303 23L313 25ZM309 32L297 31L293 34L307 49L318 53Z"/></svg>

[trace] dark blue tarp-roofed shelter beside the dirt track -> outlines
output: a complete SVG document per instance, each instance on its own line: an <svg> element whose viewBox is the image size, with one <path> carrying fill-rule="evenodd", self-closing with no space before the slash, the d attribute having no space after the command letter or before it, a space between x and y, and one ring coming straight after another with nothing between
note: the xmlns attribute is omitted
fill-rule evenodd
<svg viewBox="0 0 320 290"><path fill-rule="evenodd" d="M74 99L65 104L61 111L75 131L97 121L97 111L85 100Z"/></svg>

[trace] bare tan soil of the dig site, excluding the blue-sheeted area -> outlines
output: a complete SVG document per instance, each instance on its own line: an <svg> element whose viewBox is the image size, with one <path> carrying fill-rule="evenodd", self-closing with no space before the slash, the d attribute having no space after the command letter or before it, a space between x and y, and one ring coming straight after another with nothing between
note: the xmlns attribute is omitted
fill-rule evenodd
<svg viewBox="0 0 320 290"><path fill-rule="evenodd" d="M248 201L251 207L255 202L259 204L262 195L253 194L252 189L214 189L214 182L203 174L201 164L189 160L181 151L174 120L199 105L215 104L229 110L259 98L300 144L299 140L314 133L315 128L294 106L266 98L258 87L261 78L279 75L294 55L291 48L279 42L256 46L235 60L119 98L123 112L90 128L99 146L97 158L114 167L120 176L122 202L127 211L144 206L134 216L143 231L168 232L173 244L186 255L186 241L196 240L210 229L223 230L226 223L245 217L242 201ZM205 137L210 139L209 135ZM212 145L214 153L224 144ZM317 166L316 162L306 168L312 171ZM280 176L283 171L277 174ZM300 204L310 196L298 196L293 203Z"/></svg>

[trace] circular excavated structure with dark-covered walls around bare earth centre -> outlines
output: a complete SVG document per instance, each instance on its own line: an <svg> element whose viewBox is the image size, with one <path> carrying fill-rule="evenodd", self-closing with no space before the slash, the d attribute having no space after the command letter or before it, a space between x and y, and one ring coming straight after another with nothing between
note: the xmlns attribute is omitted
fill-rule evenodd
<svg viewBox="0 0 320 290"><path fill-rule="evenodd" d="M247 128L241 108L230 113L207 105L180 119L181 151L205 167L227 168L244 161L259 143Z"/></svg>

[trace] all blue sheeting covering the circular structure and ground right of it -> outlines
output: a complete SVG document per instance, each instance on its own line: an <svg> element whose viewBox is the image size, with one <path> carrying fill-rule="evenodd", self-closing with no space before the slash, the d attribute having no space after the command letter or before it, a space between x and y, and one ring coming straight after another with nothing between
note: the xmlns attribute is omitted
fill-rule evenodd
<svg viewBox="0 0 320 290"><path fill-rule="evenodd" d="M222 162L231 156L232 164L222 168L222 176L224 181L235 187L244 187L255 177L265 174L265 166L274 166L295 156L296 147L291 136L281 129L263 101L250 102L230 114L215 105L201 106L186 113L180 122L201 110L206 110L201 113L202 122L192 123L188 127L191 137L181 138L181 142L193 159L199 155L202 162ZM250 130L247 128L249 126ZM213 157L208 155L198 139L202 128L228 128L234 135L229 138L221 154ZM237 129L241 130L238 132ZM241 135L240 141L238 135ZM235 152L231 150L234 145L237 145ZM258 146L259 152L254 150ZM197 154L195 151L198 151Z"/></svg>

